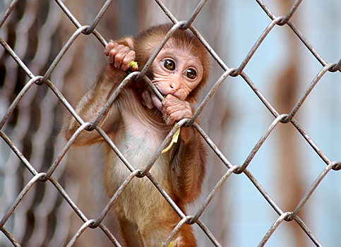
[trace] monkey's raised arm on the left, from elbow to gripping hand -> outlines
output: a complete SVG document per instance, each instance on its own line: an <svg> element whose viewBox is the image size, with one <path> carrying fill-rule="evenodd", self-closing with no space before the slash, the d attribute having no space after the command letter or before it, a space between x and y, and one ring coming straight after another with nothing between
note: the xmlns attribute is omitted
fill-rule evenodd
<svg viewBox="0 0 341 247"><path fill-rule="evenodd" d="M131 38L122 39L119 42L126 42L127 45L130 44L132 47ZM100 73L95 85L85 93L76 107L76 112L85 122L95 121L104 104L107 103L119 83L126 77L129 63L135 59L135 52L130 47L116 42L109 42L104 49L104 54L108 56L108 63L105 70ZM132 70L134 71L136 68L132 68ZM117 131L118 125L116 123L119 122L120 117L117 104L114 102L99 125L110 135ZM79 126L76 119L72 118L64 134L67 140L71 138L71 135L73 135ZM83 131L75 143L90 145L98 140L102 140L102 138L97 131Z"/></svg>

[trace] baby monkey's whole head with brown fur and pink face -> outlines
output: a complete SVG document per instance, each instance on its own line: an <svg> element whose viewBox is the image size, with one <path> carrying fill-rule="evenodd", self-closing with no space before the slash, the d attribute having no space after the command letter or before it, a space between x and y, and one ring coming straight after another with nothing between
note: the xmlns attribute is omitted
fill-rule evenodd
<svg viewBox="0 0 341 247"><path fill-rule="evenodd" d="M133 38L139 68L143 68L172 24L156 25ZM148 68L146 76L162 95L172 94L192 104L208 80L210 56L190 30L176 30Z"/></svg>

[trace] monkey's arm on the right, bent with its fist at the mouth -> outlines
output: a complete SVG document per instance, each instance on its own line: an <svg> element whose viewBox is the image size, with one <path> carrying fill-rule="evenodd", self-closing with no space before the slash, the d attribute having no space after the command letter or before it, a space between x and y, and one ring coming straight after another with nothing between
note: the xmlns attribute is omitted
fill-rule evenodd
<svg viewBox="0 0 341 247"><path fill-rule="evenodd" d="M169 126L193 116L191 104L173 95L167 95L162 106L164 121ZM181 127L179 140L173 146L170 166L173 191L182 202L190 202L201 193L205 176L206 150L203 138L193 126Z"/></svg>

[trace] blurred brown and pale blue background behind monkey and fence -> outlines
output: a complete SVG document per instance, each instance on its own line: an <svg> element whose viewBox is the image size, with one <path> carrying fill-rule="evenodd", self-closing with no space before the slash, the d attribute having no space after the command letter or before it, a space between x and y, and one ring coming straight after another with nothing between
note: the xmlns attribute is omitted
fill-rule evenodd
<svg viewBox="0 0 341 247"><path fill-rule="evenodd" d="M104 0L63 1L82 25L90 25ZM198 0L164 0L177 20L187 20ZM0 0L4 13L11 4ZM286 16L294 1L273 0L265 4L275 16ZM341 1L302 1L292 22L328 63L341 58ZM1 14L2 15L2 14ZM105 40L135 35L150 25L169 21L152 0L114 0L96 30ZM229 68L239 67L271 20L253 0L208 0L193 26ZM56 54L76 31L75 25L52 0L20 0L4 25L0 37L37 75L44 75ZM73 106L92 85L105 64L102 44L92 35L81 35L68 49L50 80ZM213 61L210 85L223 73ZM280 114L294 104L323 66L287 26L275 26L246 65L244 72ZM4 48L0 49L0 119L28 77ZM295 119L331 161L340 160L341 75L325 73ZM35 169L47 171L65 145L59 135L68 113L47 86L32 86L1 131ZM201 114L201 126L233 165L243 164L273 122L274 117L240 77L228 77ZM300 133L279 124L265 140L248 167L283 212L293 211L325 162ZM225 173L225 165L210 151L203 196L191 206L194 214ZM88 217L99 217L109 199L102 189L99 148L71 148L53 174ZM340 171L330 171L299 212L323 246L341 245ZM0 217L32 174L14 152L0 140ZM116 234L113 220L105 224ZM244 174L232 174L208 205L201 220L222 246L258 246L278 215ZM5 227L21 246L66 246L83 222L51 183L35 183ZM198 246L213 246L196 229ZM115 235L116 236L116 235ZM111 246L100 229L87 229L74 246ZM12 246L1 232L0 246ZM265 246L315 246L296 222L283 222Z"/></svg>

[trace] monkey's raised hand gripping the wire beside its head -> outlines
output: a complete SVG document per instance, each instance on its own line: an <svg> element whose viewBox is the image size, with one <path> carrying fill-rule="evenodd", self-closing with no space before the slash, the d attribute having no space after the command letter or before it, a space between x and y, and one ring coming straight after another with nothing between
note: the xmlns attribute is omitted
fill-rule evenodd
<svg viewBox="0 0 341 247"><path fill-rule="evenodd" d="M137 71L136 66L131 66L131 61L135 60L136 54L129 47L111 41L104 49L104 54L108 56L106 73L109 78L117 76L122 71Z"/></svg>

